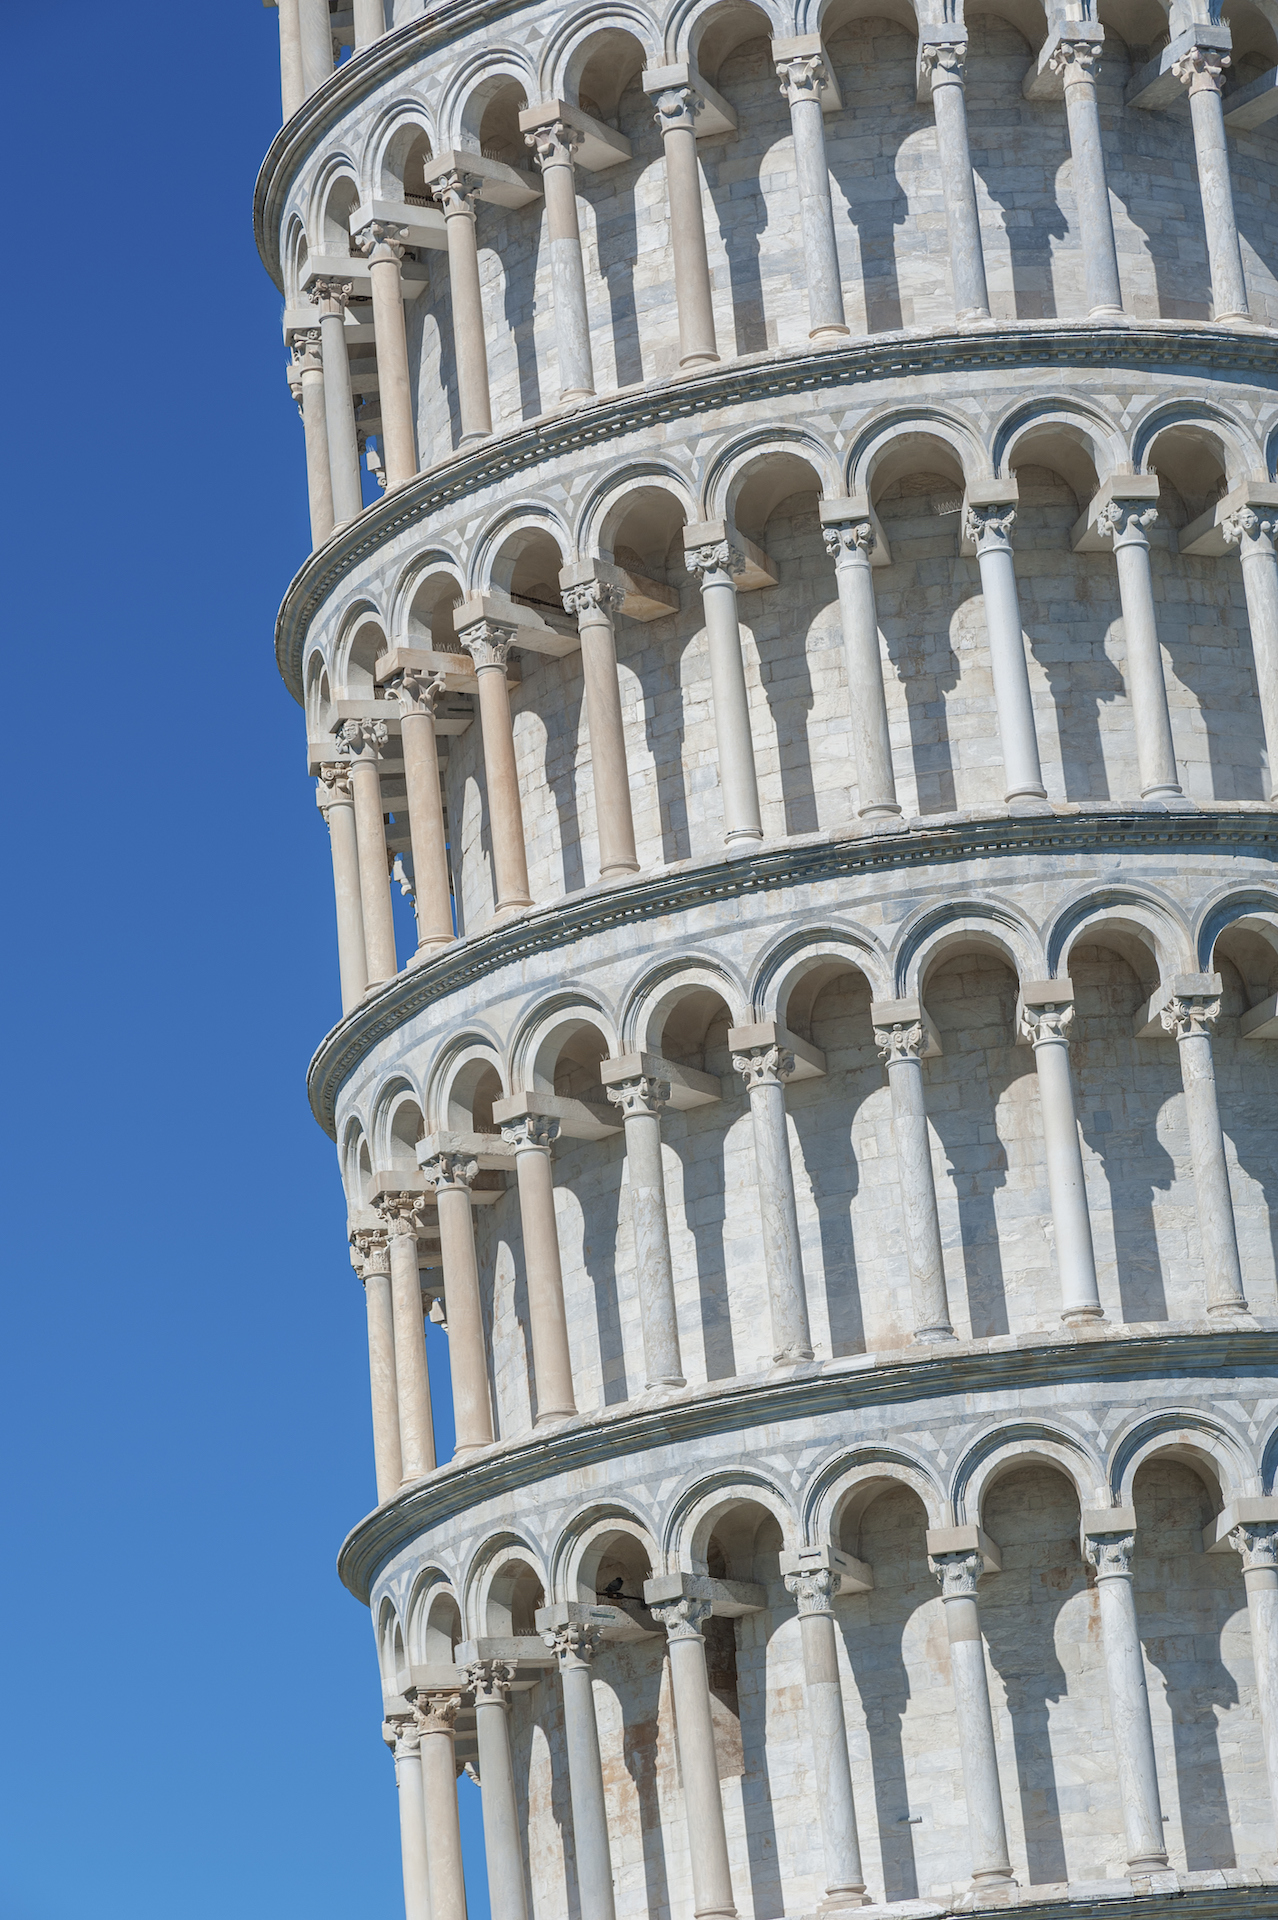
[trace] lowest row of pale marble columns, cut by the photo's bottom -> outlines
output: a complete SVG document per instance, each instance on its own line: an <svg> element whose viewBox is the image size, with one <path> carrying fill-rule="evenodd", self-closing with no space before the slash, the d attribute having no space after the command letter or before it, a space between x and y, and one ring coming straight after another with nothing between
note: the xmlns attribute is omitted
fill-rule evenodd
<svg viewBox="0 0 1278 1920"><path fill-rule="evenodd" d="M1278 1812L1278 1503L1243 1501L1247 1517L1222 1519L1217 1546L1242 1555L1255 1663L1261 1738L1270 1799ZM1136 1515L1130 1507L1082 1513L1082 1548L1094 1569L1101 1655L1109 1695L1109 1740L1130 1874L1167 1868L1149 1697L1134 1594ZM944 1601L950 1686L973 1885L981 1891L1015 1887L1004 1782L986 1676L981 1628L981 1580L1000 1571L1000 1555L979 1526L931 1528L931 1571ZM873 1803L873 1782L854 1782L839 1668L839 1594L873 1588L873 1569L829 1546L785 1553L781 1572L793 1596L802 1642L804 1724L821 1826L823 1912L869 1903L856 1797ZM729 1594L731 1586L731 1594ZM743 1596L754 1592L754 1603ZM683 1818L689 1836L693 1910L697 1920L735 1920L731 1853L723 1820L716 1757L704 1622L727 1601L731 1613L758 1611L764 1590L698 1574L662 1574L645 1584L645 1611L664 1634L679 1753ZM537 1615L553 1649L562 1688L564 1751L572 1805L572 1841L581 1912L614 1920L612 1855L595 1720L591 1670L608 1642L601 1642L603 1609L558 1603ZM484 1795L484 1845L495 1920L528 1920L520 1814L510 1763L509 1703L518 1663L470 1659L484 1642L459 1649L451 1688L409 1686L386 1722L395 1751L407 1920L464 1920L464 1884L457 1828L457 1759L453 1730L464 1701L474 1703L478 1776ZM528 1684L528 1682L524 1682Z"/></svg>

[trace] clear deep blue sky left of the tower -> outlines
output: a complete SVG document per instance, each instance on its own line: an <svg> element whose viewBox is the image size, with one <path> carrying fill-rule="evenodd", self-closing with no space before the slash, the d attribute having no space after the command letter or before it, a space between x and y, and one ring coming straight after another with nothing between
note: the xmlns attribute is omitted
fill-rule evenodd
<svg viewBox="0 0 1278 1920"><path fill-rule="evenodd" d="M251 230L274 13L63 0L4 42L0 1916L397 1920L334 1571L372 1450L305 1102L332 872L272 657L307 551Z"/></svg>

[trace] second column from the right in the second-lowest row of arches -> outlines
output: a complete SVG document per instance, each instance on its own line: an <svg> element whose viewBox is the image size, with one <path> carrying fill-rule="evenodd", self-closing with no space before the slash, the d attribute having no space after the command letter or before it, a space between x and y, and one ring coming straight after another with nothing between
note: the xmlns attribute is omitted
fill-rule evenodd
<svg viewBox="0 0 1278 1920"><path fill-rule="evenodd" d="M1046 993L1050 981L1040 987ZM1092 1221L1088 1190L1082 1177L1082 1148L1075 1116L1075 1087L1069 1071L1069 1023L1073 1002L1030 1000L1021 1016L1025 1037L1034 1048L1038 1069L1038 1106L1042 1110L1042 1140L1048 1156L1048 1194L1052 1198L1052 1227L1055 1231L1055 1265L1061 1279L1061 1319L1100 1321L1105 1309L1096 1286L1096 1254L1092 1252Z"/></svg>

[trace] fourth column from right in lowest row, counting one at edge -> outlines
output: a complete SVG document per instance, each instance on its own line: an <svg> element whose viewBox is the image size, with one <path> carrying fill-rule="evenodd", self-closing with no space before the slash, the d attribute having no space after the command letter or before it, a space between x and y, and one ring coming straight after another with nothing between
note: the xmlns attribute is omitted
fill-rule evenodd
<svg viewBox="0 0 1278 1920"><path fill-rule="evenodd" d="M787 1572L787 1592L798 1603L798 1632L804 1644L804 1703L812 1734L816 1803L821 1816L825 1851L825 1901L821 1912L865 1905L862 1841L852 1801L852 1763L848 1728L842 1716L842 1680L835 1640L835 1594L839 1574L829 1567Z"/></svg>

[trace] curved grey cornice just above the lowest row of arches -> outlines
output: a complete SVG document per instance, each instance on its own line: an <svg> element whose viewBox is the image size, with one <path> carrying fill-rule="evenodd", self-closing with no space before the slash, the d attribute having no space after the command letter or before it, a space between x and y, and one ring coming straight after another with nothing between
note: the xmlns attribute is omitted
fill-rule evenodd
<svg viewBox="0 0 1278 1920"><path fill-rule="evenodd" d="M355 1599L368 1605L372 1582L418 1534L501 1494L514 1494L555 1475L580 1473L618 1453L683 1446L708 1434L812 1419L850 1407L900 1405L961 1394L1007 1394L1036 1386L1096 1384L1101 1380L1238 1379L1272 1373L1278 1332L1266 1327L1192 1331L1128 1338L1046 1338L1038 1346L971 1348L961 1354L921 1350L913 1359L865 1365L858 1356L827 1361L819 1371L783 1380L733 1380L698 1388L658 1405L581 1415L549 1434L535 1430L487 1459L443 1467L378 1507L351 1528L338 1553L338 1574ZM695 1457L689 1452L689 1457Z"/></svg>

